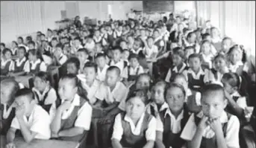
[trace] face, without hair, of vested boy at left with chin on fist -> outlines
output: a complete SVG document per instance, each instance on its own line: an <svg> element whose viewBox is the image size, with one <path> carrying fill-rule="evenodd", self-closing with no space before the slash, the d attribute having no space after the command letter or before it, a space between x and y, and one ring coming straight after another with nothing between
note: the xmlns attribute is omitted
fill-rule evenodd
<svg viewBox="0 0 256 148"><path fill-rule="evenodd" d="M60 79L58 86L58 94L61 100L72 100L78 90L77 87L74 86L74 82L68 79Z"/></svg>

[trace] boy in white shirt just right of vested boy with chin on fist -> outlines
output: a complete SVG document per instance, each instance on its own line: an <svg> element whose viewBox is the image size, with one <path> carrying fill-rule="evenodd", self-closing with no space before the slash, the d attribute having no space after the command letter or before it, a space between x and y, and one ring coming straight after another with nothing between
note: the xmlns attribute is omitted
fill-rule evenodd
<svg viewBox="0 0 256 148"><path fill-rule="evenodd" d="M101 82L96 80L97 65L93 62L87 62L84 65L85 81L81 81L81 87L87 91L87 99L89 103L94 106L97 102L96 91L99 89Z"/></svg>

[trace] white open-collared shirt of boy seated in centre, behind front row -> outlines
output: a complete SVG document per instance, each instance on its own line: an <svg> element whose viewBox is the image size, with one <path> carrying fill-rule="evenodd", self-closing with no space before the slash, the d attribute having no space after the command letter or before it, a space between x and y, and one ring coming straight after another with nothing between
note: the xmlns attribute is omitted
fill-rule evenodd
<svg viewBox="0 0 256 148"><path fill-rule="evenodd" d="M128 89L121 82L116 83L116 87L113 89L113 91L110 91L110 87L105 83L102 83L96 92L96 98L99 100L105 100L108 104L113 102L121 102L122 100L126 99L127 95Z"/></svg>

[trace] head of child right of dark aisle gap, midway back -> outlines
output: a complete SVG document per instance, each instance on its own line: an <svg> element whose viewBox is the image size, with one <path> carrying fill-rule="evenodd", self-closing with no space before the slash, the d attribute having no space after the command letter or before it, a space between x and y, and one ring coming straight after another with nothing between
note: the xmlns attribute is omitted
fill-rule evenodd
<svg viewBox="0 0 256 148"><path fill-rule="evenodd" d="M182 50L182 48L177 47L177 48L173 49L173 51L172 51L173 65L176 65L176 66L181 65L181 63L184 61L184 58L185 58L185 53Z"/></svg>

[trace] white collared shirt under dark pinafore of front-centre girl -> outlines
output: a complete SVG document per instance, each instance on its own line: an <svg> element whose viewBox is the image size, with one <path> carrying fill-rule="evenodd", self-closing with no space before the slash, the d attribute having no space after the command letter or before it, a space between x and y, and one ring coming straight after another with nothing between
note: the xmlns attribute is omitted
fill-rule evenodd
<svg viewBox="0 0 256 148"><path fill-rule="evenodd" d="M135 126L134 122L131 120L131 118L128 117L128 115L125 115L124 120L127 121L131 127L131 132L134 135L140 135L141 128L143 126L143 119L144 119L145 113L141 115L137 125ZM148 129L146 130L146 140L147 141L154 141L156 136L156 119L152 117L152 119L149 121ZM122 128L122 118L121 114L119 113L116 115L115 122L113 124L113 135L111 139L117 139L121 140L123 135L124 129Z"/></svg>

